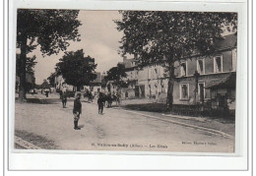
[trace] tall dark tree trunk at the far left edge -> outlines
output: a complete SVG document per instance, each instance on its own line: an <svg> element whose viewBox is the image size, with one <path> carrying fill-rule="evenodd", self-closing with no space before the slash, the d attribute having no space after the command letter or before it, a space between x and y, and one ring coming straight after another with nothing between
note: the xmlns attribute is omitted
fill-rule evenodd
<svg viewBox="0 0 256 176"><path fill-rule="evenodd" d="M21 65L20 67L20 89L19 102L26 101L26 60L27 60L27 36L24 36L21 41Z"/></svg>

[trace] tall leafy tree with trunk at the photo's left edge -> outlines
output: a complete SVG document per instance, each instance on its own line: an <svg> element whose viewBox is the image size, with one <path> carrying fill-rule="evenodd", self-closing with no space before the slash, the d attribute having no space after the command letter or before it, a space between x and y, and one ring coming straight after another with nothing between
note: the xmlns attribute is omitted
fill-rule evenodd
<svg viewBox="0 0 256 176"><path fill-rule="evenodd" d="M19 100L26 99L26 62L27 54L40 46L42 55L57 54L66 50L68 41L79 41L77 10L28 10L18 9L17 47L20 56Z"/></svg>

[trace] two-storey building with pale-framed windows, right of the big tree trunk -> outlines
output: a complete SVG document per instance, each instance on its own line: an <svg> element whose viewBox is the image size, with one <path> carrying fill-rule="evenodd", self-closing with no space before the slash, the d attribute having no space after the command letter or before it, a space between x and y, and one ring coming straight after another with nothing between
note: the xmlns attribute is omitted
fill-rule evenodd
<svg viewBox="0 0 256 176"><path fill-rule="evenodd" d="M176 63L174 104L209 102L213 108L235 108L236 35L224 36L218 46L215 56L197 56Z"/></svg>

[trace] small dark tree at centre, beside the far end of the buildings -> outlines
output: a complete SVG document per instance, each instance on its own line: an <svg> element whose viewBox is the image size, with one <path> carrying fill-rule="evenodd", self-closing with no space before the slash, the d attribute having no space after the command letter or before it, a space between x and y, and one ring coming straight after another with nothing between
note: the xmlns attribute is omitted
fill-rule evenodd
<svg viewBox="0 0 256 176"><path fill-rule="evenodd" d="M123 64L117 64L116 67L112 67L109 71L106 72L106 76L104 77L105 81L113 81L113 83L117 86L117 88L123 87L125 82L124 78L127 77L125 73L125 66Z"/></svg>

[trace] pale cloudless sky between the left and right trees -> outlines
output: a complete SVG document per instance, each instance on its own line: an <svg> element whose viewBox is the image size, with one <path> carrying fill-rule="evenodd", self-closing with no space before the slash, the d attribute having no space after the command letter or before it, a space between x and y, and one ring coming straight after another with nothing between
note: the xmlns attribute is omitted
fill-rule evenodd
<svg viewBox="0 0 256 176"><path fill-rule="evenodd" d="M113 20L121 20L118 11L80 11L78 19L82 26L79 28L81 41L70 42L67 51L77 51L84 49L85 56L90 55L96 59L96 72L106 72L117 65L123 59L118 54L118 49L123 35L116 29ZM36 65L34 67L35 83L42 84L54 72L56 63L64 55L60 52L58 55L45 56L39 51L39 46L29 54L35 55Z"/></svg>

